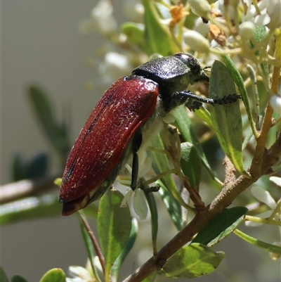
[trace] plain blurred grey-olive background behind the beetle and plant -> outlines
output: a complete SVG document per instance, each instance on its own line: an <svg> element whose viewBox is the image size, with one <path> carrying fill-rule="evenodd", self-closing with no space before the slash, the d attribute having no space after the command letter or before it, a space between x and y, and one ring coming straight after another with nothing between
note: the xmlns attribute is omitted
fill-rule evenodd
<svg viewBox="0 0 281 282"><path fill-rule="evenodd" d="M58 160L27 99L30 84L46 90L55 101L59 117L63 118L65 112L70 116L72 143L103 93L100 86L87 91L86 82L98 82L98 65L103 58L96 56L96 50L105 41L98 34L85 35L78 30L97 2L1 1L1 184L11 181L11 159L17 152L31 158L44 151L53 155L50 173L58 169ZM115 17L122 23L127 20L119 4L122 1L118 5L113 2ZM92 67L86 63L89 57L95 58ZM148 226L143 224L143 232L150 232ZM0 264L8 278L18 274L35 282L48 269L60 267L67 272L70 265L86 264L86 250L74 215L0 228ZM235 236L217 248L226 251L226 260L219 271L199 281L280 281L280 260L271 260L263 250L241 243ZM128 267L136 269L135 262L128 262Z"/></svg>

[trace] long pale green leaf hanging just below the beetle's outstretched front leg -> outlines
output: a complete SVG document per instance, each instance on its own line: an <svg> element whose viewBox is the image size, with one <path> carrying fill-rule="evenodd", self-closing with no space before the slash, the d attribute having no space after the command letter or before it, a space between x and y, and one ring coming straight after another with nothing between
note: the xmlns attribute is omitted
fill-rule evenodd
<svg viewBox="0 0 281 282"><path fill-rule="evenodd" d="M194 130L192 129L192 121L190 117L188 117L188 113L186 113L186 109L184 106L176 108L173 112L174 117L176 118L176 127L178 128L179 132L183 136L185 142L192 143L197 150L198 155L202 159L203 166L209 172L211 177L214 179L214 172L212 171L206 156L202 150L202 146L200 141L198 140Z"/></svg>

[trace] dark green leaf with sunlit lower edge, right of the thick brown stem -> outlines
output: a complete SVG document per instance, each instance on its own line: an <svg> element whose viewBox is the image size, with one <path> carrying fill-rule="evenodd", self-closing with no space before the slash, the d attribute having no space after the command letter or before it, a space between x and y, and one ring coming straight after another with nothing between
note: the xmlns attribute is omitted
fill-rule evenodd
<svg viewBox="0 0 281 282"><path fill-rule="evenodd" d="M246 207L232 207L223 210L197 233L192 243L202 243L209 247L215 245L237 228L246 213Z"/></svg>

